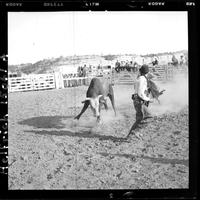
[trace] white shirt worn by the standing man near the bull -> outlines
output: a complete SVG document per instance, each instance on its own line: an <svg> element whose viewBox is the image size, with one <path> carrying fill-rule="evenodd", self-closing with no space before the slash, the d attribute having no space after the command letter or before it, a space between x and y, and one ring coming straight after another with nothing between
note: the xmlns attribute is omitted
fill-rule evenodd
<svg viewBox="0 0 200 200"><path fill-rule="evenodd" d="M147 80L144 76L139 76L135 84L135 93L145 101L149 101L147 96Z"/></svg>

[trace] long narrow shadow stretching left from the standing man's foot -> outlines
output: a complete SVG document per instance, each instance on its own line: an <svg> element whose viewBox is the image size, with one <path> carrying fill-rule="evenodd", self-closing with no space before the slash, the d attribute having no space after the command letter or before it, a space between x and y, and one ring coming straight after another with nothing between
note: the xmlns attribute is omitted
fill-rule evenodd
<svg viewBox="0 0 200 200"><path fill-rule="evenodd" d="M129 142L126 138L123 137L114 137L114 136L107 136L107 135L99 135L92 133L91 131L79 131L73 132L70 130L62 130L62 131L26 131L27 133L35 133L38 135L56 135L56 136L69 136L69 137L79 137L79 138L97 138L99 140L111 140L113 142Z"/></svg>

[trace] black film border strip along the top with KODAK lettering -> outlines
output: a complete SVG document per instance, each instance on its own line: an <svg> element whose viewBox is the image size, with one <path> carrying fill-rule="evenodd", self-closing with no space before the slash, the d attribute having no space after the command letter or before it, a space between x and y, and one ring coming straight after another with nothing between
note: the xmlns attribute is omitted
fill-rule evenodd
<svg viewBox="0 0 200 200"><path fill-rule="evenodd" d="M74 0L74 1L5 1L0 9L7 11L133 11L133 10L183 10L196 6L196 1L146 1L146 0Z"/></svg>

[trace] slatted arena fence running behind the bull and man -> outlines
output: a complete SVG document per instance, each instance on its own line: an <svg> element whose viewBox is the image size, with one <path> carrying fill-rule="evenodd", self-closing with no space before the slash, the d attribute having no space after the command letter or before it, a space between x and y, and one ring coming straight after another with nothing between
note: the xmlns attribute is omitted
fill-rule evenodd
<svg viewBox="0 0 200 200"><path fill-rule="evenodd" d="M173 79L173 76L177 73L187 71L187 66L178 66L175 68L171 65L156 66L154 69L151 67L151 71L154 70L157 81L169 81ZM93 76L89 77L73 77L66 78L60 72L53 74L37 74L23 77L13 77L8 79L8 92L19 91L32 91L32 90L46 90L46 89L62 89L67 87L76 87L81 85L89 85ZM133 84L137 78L137 73L133 72L112 72L110 75L98 78L106 78L113 85L114 84Z"/></svg>

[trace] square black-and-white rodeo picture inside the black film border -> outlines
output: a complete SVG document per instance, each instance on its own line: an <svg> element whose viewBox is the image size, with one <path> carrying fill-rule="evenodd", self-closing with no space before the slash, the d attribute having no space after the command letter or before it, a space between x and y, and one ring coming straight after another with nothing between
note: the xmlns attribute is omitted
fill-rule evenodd
<svg viewBox="0 0 200 200"><path fill-rule="evenodd" d="M189 188L187 11L8 12L8 189Z"/></svg>

